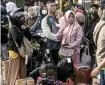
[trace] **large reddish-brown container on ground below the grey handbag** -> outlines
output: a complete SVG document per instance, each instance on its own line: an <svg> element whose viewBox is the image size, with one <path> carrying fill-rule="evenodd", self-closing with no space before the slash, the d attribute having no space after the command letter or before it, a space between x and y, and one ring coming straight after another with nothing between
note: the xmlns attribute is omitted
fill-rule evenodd
<svg viewBox="0 0 105 85"><path fill-rule="evenodd" d="M87 84L88 80L90 79L90 73L92 69L89 66L74 66L76 70L76 77L75 77L75 83L84 83Z"/></svg>

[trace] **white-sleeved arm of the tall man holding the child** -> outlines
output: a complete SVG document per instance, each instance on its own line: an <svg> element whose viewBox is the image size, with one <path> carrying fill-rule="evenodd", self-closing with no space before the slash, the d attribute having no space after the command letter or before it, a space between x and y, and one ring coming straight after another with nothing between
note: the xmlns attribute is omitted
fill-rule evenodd
<svg viewBox="0 0 105 85"><path fill-rule="evenodd" d="M47 37L48 39L57 41L56 34L51 32L50 27L47 24L46 18L44 18L42 20L41 28L42 28L42 31L43 31L45 37Z"/></svg>

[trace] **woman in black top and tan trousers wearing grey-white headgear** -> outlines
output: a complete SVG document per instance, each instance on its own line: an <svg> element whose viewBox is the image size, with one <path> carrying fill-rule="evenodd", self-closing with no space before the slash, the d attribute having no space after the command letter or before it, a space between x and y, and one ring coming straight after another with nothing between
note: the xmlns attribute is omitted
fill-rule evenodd
<svg viewBox="0 0 105 85"><path fill-rule="evenodd" d="M17 78L26 77L25 58L20 56L18 47L21 47L23 37L31 39L29 29L24 25L25 17L23 9L16 9L10 13L12 27L9 33L9 68L8 68L8 85L15 85ZM16 44L17 43L17 44ZM17 47L18 46L18 47Z"/></svg>

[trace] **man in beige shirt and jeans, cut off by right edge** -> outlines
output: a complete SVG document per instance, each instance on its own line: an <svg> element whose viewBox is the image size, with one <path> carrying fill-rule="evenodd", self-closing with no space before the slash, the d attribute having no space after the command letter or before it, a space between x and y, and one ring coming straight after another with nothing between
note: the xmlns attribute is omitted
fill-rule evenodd
<svg viewBox="0 0 105 85"><path fill-rule="evenodd" d="M105 85L105 4L102 5L103 15L96 25L93 33L94 42L97 46L96 58L98 66L91 76L97 76L100 72L100 85Z"/></svg>

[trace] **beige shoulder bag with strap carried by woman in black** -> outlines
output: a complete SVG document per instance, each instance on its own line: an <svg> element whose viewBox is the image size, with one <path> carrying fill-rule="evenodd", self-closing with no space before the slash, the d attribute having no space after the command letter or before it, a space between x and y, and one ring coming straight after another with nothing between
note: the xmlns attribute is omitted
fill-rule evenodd
<svg viewBox="0 0 105 85"><path fill-rule="evenodd" d="M12 31L10 30L11 35ZM17 42L15 41L13 35L12 35L13 41L15 42L15 45L18 49L18 53L21 57L27 58L32 57L33 55L33 46L31 45L30 41L24 36L23 41L21 42L21 46L19 47Z"/></svg>

